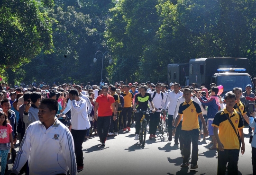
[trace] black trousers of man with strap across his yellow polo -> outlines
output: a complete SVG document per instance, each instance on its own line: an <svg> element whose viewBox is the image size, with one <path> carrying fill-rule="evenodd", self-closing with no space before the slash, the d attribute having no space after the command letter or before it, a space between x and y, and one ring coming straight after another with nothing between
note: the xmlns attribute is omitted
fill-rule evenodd
<svg viewBox="0 0 256 175"><path fill-rule="evenodd" d="M218 150L218 169L217 175L226 174L226 166L229 162L228 174L238 175L238 157L239 149L224 149Z"/></svg>

